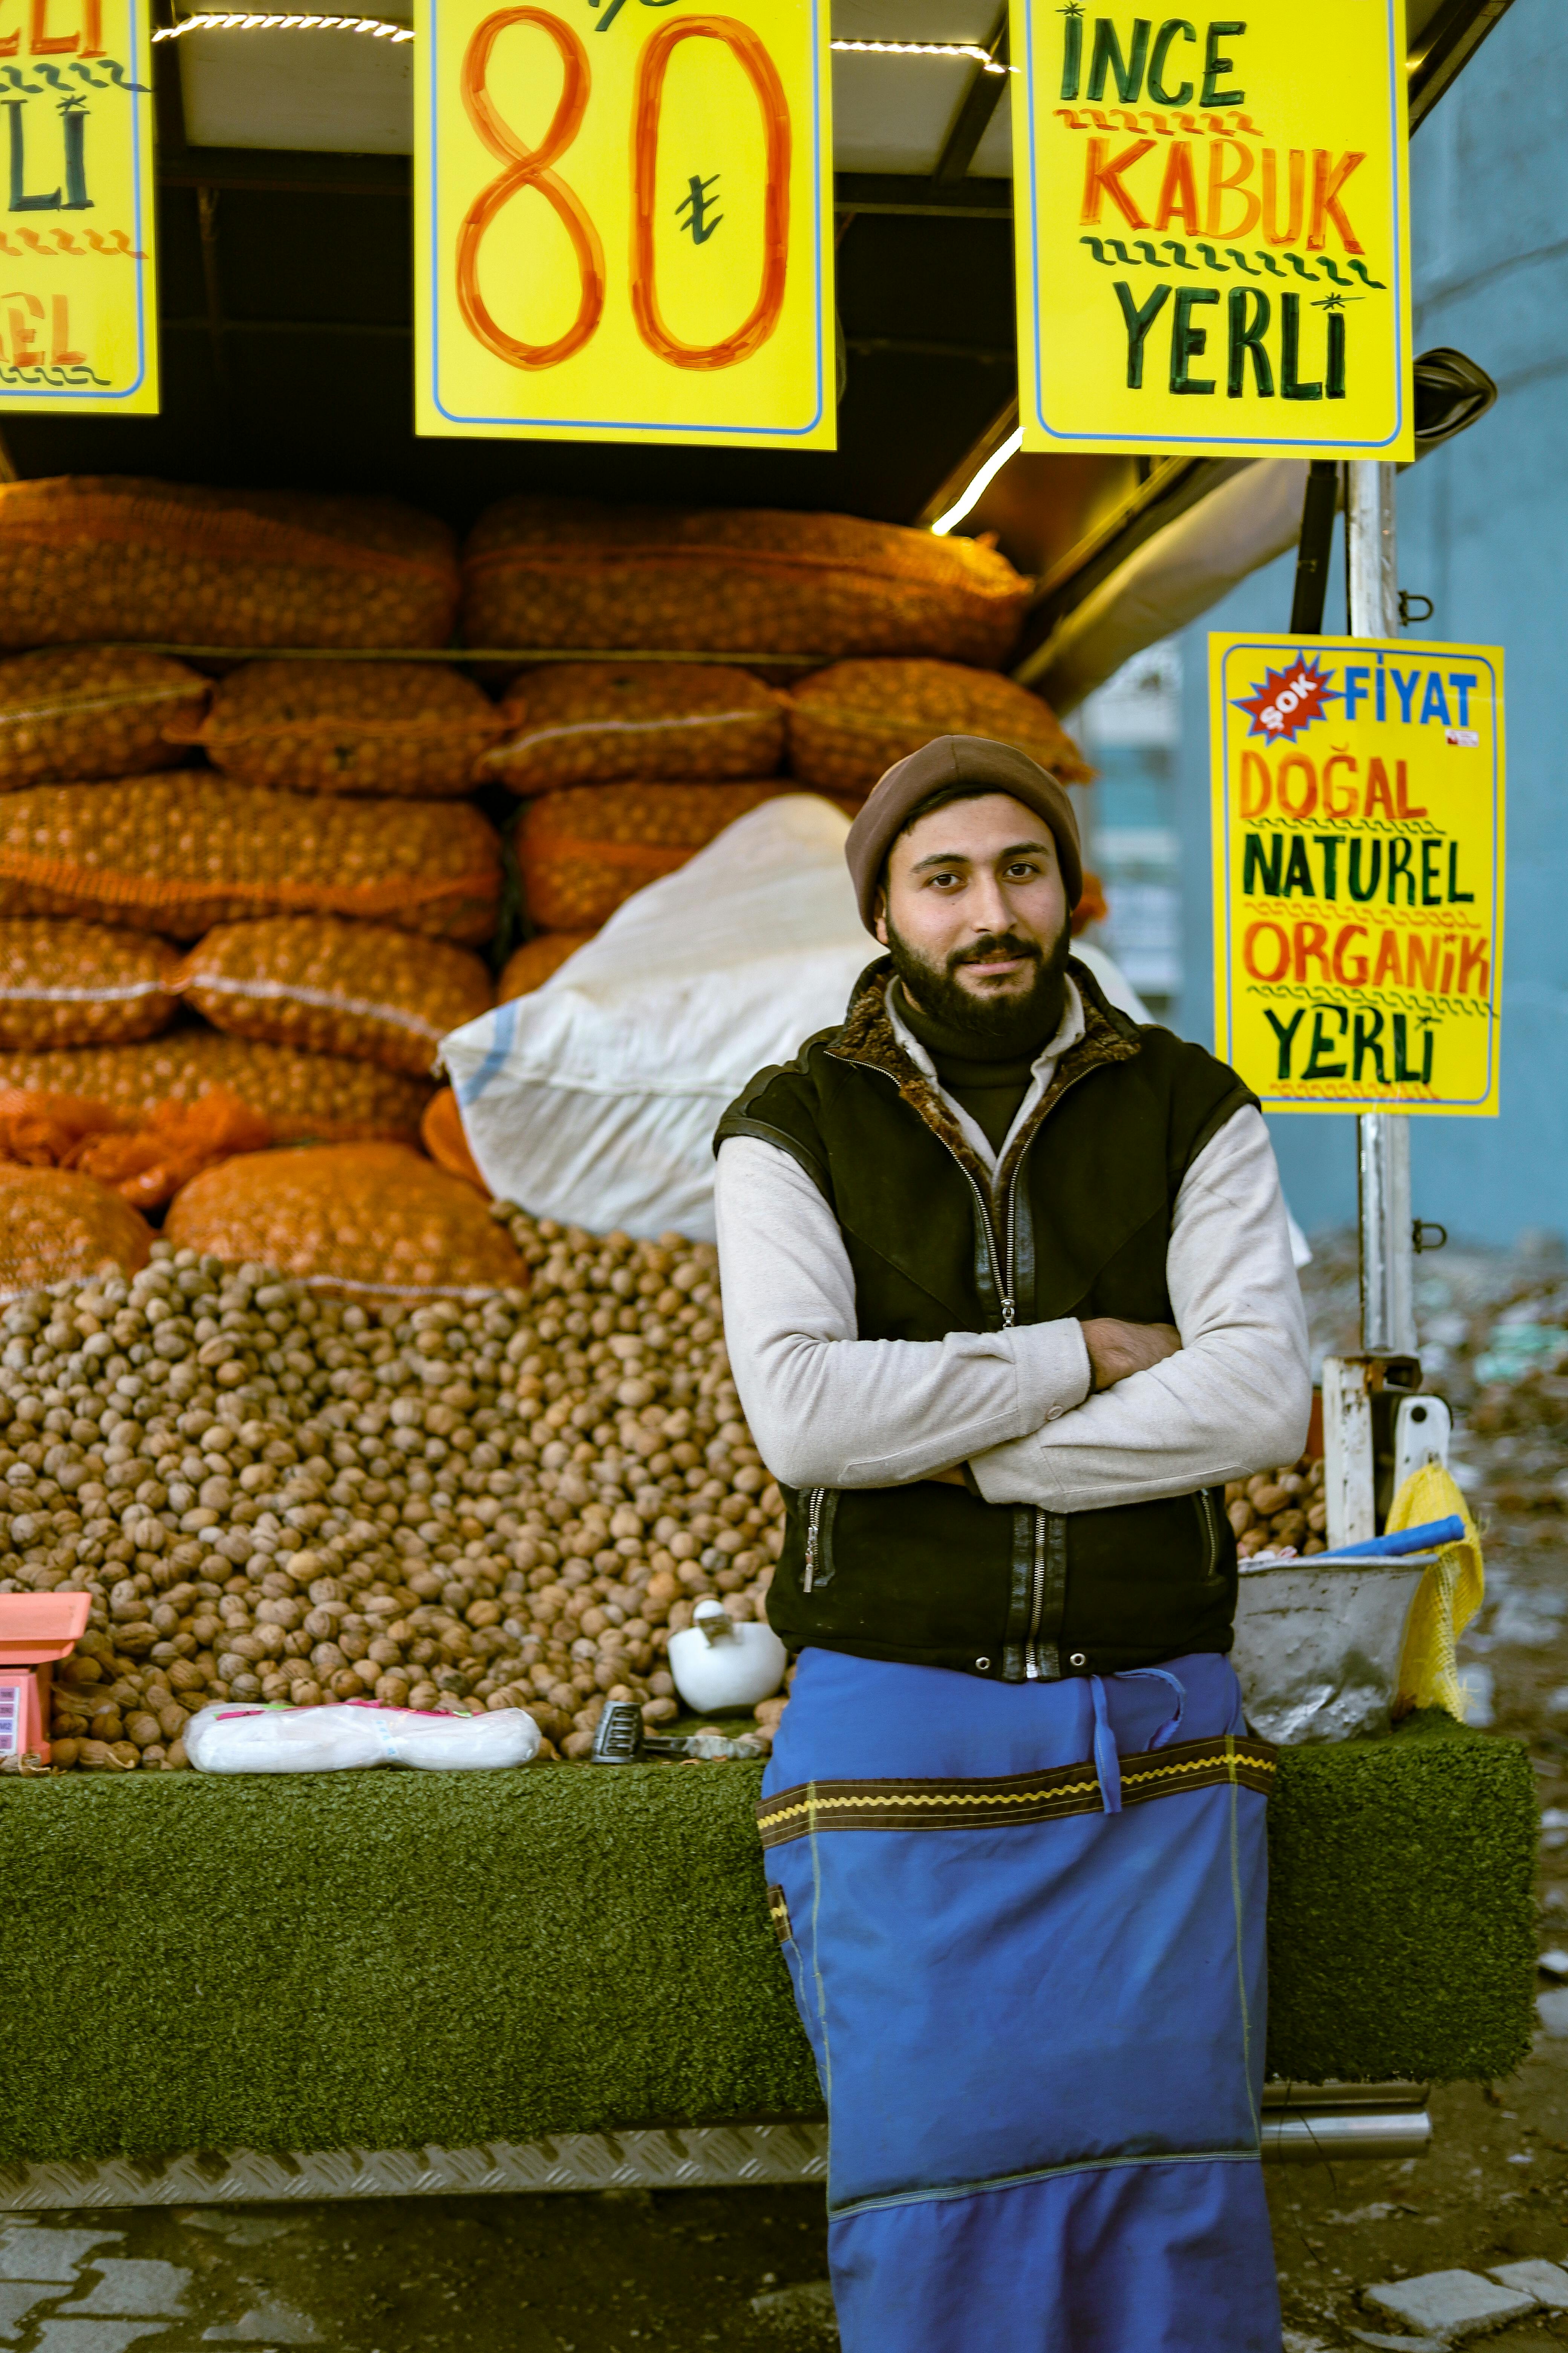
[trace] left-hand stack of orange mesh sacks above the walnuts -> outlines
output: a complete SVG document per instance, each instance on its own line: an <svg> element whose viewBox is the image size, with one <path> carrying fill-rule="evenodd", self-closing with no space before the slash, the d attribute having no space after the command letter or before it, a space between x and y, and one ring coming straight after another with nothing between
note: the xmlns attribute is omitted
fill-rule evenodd
<svg viewBox="0 0 1568 2353"><path fill-rule="evenodd" d="M421 647L456 595L447 527L393 501L0 487L0 645L47 647L0 661L14 1108L71 1099L68 1134L87 1111L122 1141L158 1111L160 1146L195 1104L226 1151L416 1139L437 1040L491 1002L475 951L501 847L475 807L442 807L496 734L489 699L437 664L249 661L214 687L56 642ZM146 1136L129 1151L150 1155L172 1165ZM120 1191L158 1207L134 1176Z"/></svg>

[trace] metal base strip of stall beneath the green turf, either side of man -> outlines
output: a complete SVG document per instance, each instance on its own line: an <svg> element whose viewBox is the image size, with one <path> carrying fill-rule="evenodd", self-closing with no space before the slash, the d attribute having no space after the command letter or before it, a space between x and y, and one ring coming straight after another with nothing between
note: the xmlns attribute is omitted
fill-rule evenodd
<svg viewBox="0 0 1568 2353"><path fill-rule="evenodd" d="M1432 2139L1427 2087L1269 2085L1262 2155L1413 2158ZM122 2205L287 2205L313 2198L480 2198L520 2191L705 2191L827 2181L827 2125L668 2125L649 2132L562 2132L480 2148L256 2148L99 2165L5 2165L0 2212Z"/></svg>

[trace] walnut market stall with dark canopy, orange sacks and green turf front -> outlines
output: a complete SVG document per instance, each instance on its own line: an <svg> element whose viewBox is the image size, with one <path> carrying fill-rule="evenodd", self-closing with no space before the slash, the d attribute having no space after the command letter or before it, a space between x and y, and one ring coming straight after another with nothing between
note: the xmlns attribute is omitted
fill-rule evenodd
<svg viewBox="0 0 1568 2353"><path fill-rule="evenodd" d="M1439 14L1448 56L1488 12ZM919 172L877 146L893 85L842 111L839 454L701 471L414 440L407 45L299 35L339 42L339 120L301 113L277 26L242 136L249 33L162 31L165 412L5 424L0 1602L85 1593L89 1626L52 1769L0 1781L28 2021L0 2191L277 2195L277 2153L296 2195L797 2177L818 2097L757 1769L585 1762L607 1704L677 1718L698 1602L764 1617L780 1497L715 1252L658 1186L628 1233L581 1179L491 1205L463 1113L541 986L581 953L611 998L614 941L719 842L795 826L837 1002L811 875L879 769L973 729L1086 784L1051 701L1286 546L1305 468L1020 459L994 522L966 506L1011 431L994 26L926 59L952 87ZM1324 1551L1309 1461L1227 1506L1244 1551ZM195 1708L277 1699L524 1711L543 1762L186 1769ZM1281 2146L1331 2115L1293 2085L1378 2087L1387 2151L1413 2087L1519 2064L1533 1838L1526 1753L1441 1711L1284 1753ZM414 2179L386 2155L425 2144ZM193 2169L212 2148L240 2155Z"/></svg>

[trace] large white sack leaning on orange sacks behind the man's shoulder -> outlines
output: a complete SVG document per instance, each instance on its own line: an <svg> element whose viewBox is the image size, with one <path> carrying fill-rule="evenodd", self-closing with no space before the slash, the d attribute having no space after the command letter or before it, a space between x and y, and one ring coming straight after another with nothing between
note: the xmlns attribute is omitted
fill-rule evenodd
<svg viewBox="0 0 1568 2353"><path fill-rule="evenodd" d="M710 1242L712 1132L764 1064L844 1019L877 955L816 793L741 816L543 988L442 1040L484 1184L588 1233Z"/></svg>

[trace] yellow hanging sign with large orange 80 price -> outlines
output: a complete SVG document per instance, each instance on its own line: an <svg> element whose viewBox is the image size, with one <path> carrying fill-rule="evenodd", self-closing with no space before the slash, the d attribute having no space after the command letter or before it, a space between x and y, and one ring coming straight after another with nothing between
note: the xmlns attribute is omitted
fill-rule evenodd
<svg viewBox="0 0 1568 2353"><path fill-rule="evenodd" d="M832 449L827 0L416 21L416 428Z"/></svg>

